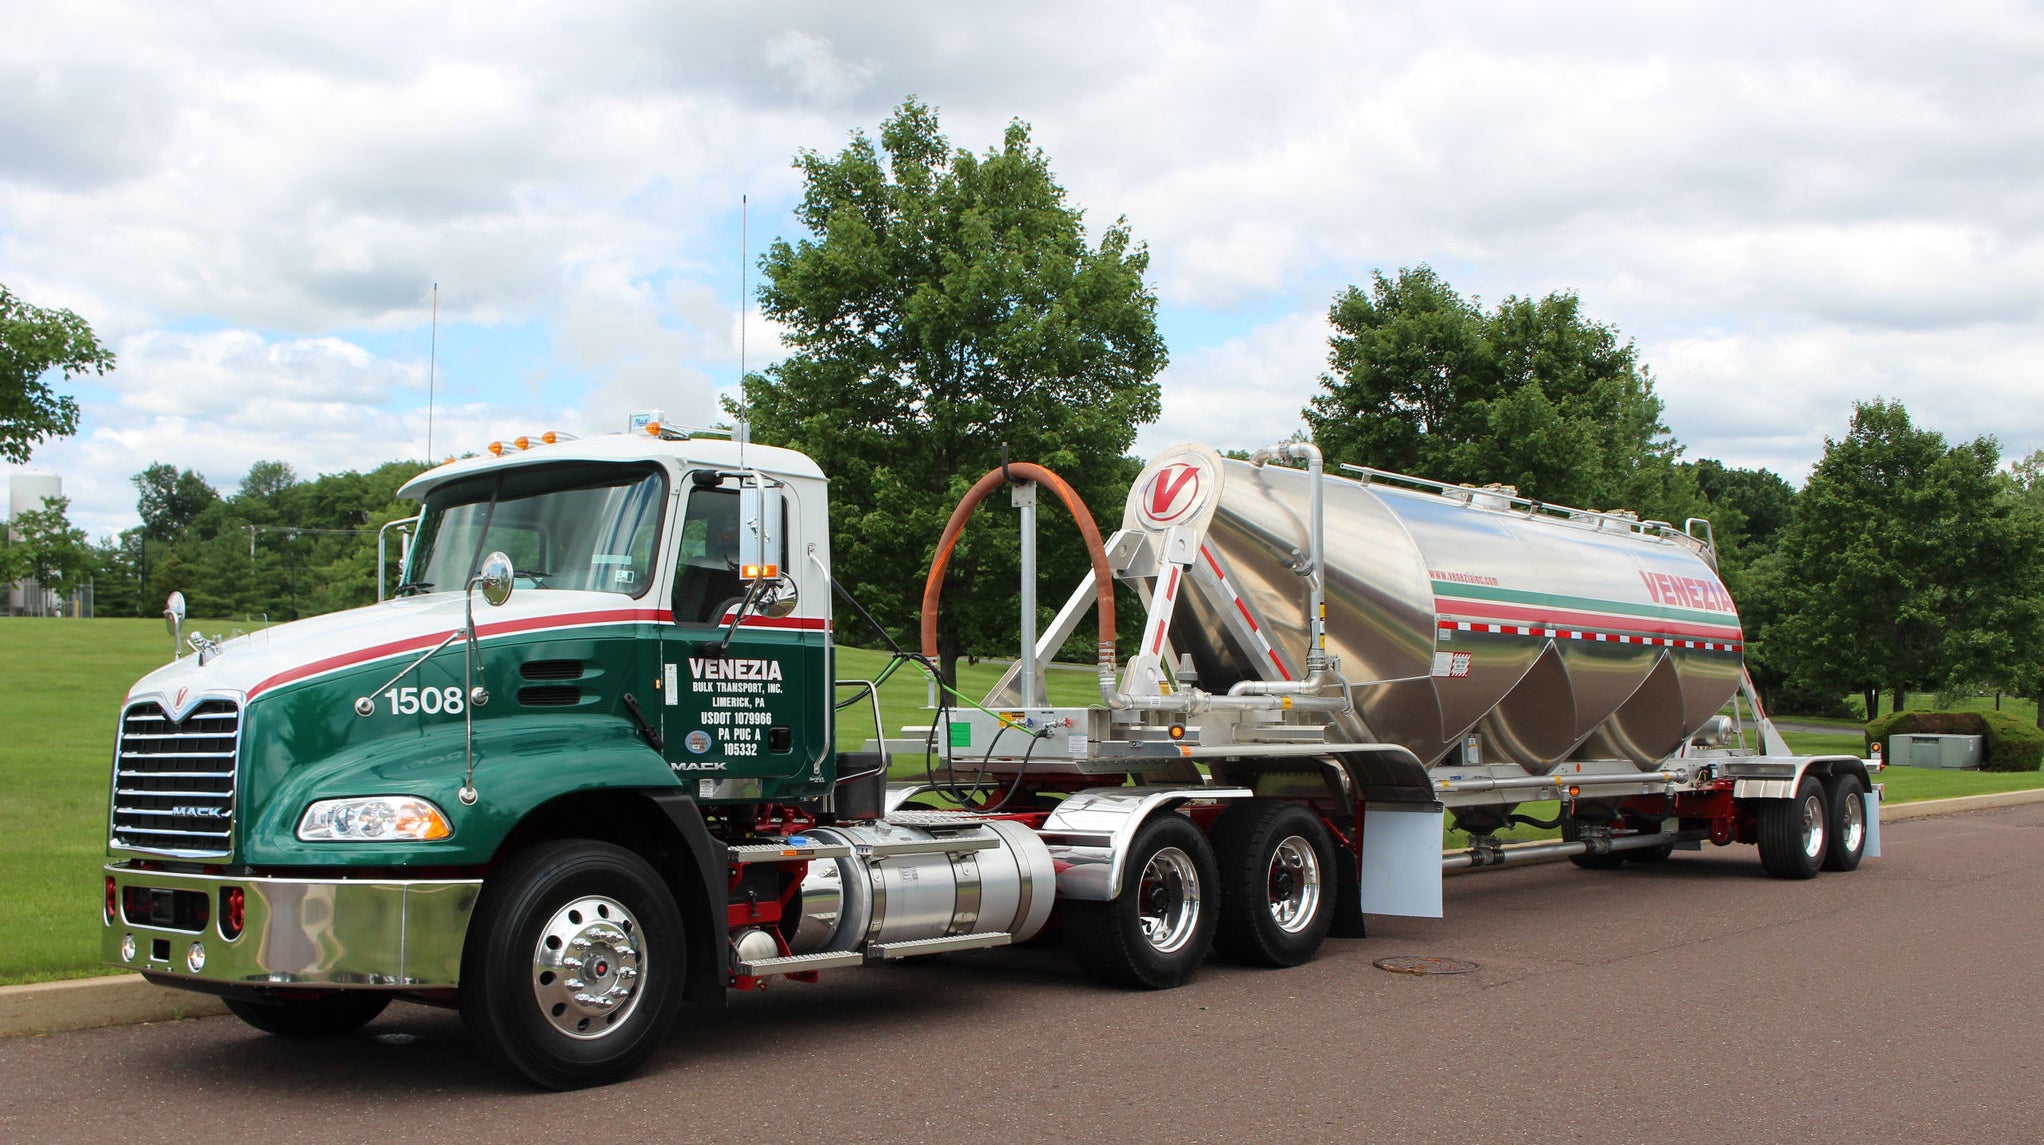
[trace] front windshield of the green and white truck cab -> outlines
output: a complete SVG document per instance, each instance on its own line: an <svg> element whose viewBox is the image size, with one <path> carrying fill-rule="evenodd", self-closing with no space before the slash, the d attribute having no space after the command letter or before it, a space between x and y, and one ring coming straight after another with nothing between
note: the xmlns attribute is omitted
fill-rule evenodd
<svg viewBox="0 0 2044 1145"><path fill-rule="evenodd" d="M425 497L403 589L460 591L503 550L519 589L640 597L652 585L666 478L654 466L525 466Z"/></svg>

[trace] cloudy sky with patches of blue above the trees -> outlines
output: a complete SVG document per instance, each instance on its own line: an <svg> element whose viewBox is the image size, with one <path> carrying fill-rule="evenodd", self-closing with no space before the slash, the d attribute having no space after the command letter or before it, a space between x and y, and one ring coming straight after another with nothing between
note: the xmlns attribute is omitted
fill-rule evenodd
<svg viewBox="0 0 2044 1145"><path fill-rule="evenodd" d="M149 462L231 491L427 456L429 370L435 456L711 419L777 354L742 229L795 237L789 159L908 94L971 149L1028 121L1149 243L1145 452L1290 433L1331 299L1421 262L1582 294L1692 458L1801 480L1876 395L2044 448L2038 4L72 0L4 29L0 282L121 358L31 466L96 536Z"/></svg>

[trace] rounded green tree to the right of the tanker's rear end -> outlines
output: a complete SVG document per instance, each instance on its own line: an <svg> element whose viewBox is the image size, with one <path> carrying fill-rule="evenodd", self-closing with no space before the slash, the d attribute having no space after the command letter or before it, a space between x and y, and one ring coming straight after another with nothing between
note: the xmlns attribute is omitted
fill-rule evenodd
<svg viewBox="0 0 2044 1145"><path fill-rule="evenodd" d="M1948 446L1901 403L1856 403L1780 534L1764 658L1805 687L1862 693L1868 718L1883 689L1899 712L1911 689L1991 675L2036 560L1997 464L1993 438Z"/></svg>

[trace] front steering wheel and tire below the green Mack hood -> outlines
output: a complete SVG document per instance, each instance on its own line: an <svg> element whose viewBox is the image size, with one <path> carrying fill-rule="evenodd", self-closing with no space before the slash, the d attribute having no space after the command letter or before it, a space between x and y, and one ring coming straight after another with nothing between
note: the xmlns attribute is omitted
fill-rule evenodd
<svg viewBox="0 0 2044 1145"><path fill-rule="evenodd" d="M583 961L566 961L576 943ZM685 959L681 912L644 859L587 838L542 842L482 887L462 951L462 1024L536 1086L607 1086L660 1049Z"/></svg>

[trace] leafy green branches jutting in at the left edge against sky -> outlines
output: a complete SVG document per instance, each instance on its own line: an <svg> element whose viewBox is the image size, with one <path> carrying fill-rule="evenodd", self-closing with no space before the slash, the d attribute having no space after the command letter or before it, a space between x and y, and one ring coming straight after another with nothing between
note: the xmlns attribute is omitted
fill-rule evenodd
<svg viewBox="0 0 2044 1145"><path fill-rule="evenodd" d="M72 380L112 368L114 354L86 319L31 307L0 286L0 460L27 462L39 442L78 433L78 399L49 388L51 370Z"/></svg>

